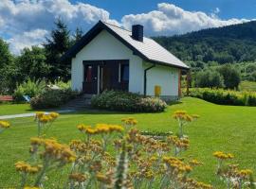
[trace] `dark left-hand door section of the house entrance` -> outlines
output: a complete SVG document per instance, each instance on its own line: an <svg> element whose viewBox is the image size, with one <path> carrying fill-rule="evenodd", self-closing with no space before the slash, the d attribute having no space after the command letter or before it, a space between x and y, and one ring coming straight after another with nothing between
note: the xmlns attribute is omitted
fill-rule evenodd
<svg viewBox="0 0 256 189"><path fill-rule="evenodd" d="M98 93L98 65L95 63L84 64L84 78L82 90L84 94Z"/></svg>

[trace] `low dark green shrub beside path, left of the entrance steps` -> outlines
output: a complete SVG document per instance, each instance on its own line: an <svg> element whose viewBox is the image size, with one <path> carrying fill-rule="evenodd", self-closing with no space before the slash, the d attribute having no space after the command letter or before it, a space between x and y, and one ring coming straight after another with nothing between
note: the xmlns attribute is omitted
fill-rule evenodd
<svg viewBox="0 0 256 189"><path fill-rule="evenodd" d="M73 92L71 89L46 90L45 93L32 97L30 100L30 106L34 110L57 108L68 100L76 97L77 94L77 92Z"/></svg>

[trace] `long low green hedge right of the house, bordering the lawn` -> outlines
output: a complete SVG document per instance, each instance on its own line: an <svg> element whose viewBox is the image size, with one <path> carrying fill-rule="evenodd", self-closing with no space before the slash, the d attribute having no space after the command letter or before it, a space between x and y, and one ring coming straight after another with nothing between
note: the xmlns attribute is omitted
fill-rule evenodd
<svg viewBox="0 0 256 189"><path fill-rule="evenodd" d="M192 88L190 96L206 101L233 106L256 106L255 92L236 92L223 89Z"/></svg>

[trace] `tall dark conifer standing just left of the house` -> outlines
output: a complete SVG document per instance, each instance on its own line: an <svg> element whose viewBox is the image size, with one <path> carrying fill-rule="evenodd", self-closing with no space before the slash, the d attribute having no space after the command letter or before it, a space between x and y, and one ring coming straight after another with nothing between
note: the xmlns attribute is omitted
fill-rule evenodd
<svg viewBox="0 0 256 189"><path fill-rule="evenodd" d="M56 28L51 31L50 38L46 38L46 62L51 65L49 78L70 78L71 64L69 61L61 61L61 57L71 45L71 40L67 26L59 18L55 22Z"/></svg>

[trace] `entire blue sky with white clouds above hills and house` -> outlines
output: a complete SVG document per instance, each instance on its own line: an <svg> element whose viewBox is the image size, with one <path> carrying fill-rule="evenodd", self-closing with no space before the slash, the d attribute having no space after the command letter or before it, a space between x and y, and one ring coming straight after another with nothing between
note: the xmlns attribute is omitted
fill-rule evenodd
<svg viewBox="0 0 256 189"><path fill-rule="evenodd" d="M130 29L144 26L146 36L184 34L256 19L256 0L0 0L0 38L12 53L41 45L62 18L73 33L99 20Z"/></svg>

